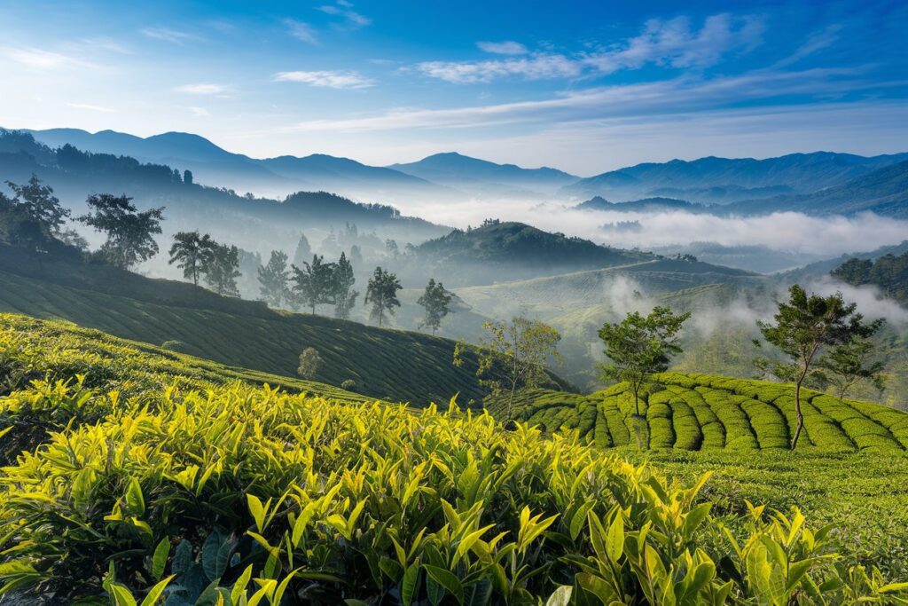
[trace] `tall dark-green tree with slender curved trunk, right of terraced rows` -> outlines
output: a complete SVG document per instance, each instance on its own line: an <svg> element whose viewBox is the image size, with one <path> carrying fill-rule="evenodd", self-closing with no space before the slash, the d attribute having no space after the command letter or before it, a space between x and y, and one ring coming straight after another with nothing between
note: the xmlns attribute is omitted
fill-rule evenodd
<svg viewBox="0 0 908 606"><path fill-rule="evenodd" d="M780 379L795 383L797 425L791 441L791 449L795 450L804 430L801 387L817 370L816 364L824 353L855 339L870 337L879 329L882 321L865 324L864 316L855 312L857 305L845 303L842 293L824 297L808 294L803 287L794 284L788 289L788 294L787 302L778 303L775 324L757 321L766 342L784 353L788 362L759 359L757 363Z"/></svg>

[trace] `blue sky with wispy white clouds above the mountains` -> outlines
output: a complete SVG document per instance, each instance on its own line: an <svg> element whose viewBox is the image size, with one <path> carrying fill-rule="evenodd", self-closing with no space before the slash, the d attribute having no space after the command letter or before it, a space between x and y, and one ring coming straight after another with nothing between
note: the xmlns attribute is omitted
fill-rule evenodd
<svg viewBox="0 0 908 606"><path fill-rule="evenodd" d="M0 2L0 124L596 174L908 150L903 2Z"/></svg>

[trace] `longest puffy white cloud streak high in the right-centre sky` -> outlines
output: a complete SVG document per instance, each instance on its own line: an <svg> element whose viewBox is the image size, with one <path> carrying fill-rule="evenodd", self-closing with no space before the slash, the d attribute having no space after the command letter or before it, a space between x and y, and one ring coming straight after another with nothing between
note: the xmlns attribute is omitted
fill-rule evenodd
<svg viewBox="0 0 908 606"><path fill-rule="evenodd" d="M763 20L750 15L711 15L698 30L686 17L652 19L640 35L577 55L537 52L519 59L429 61L419 63L416 69L453 84L490 82L507 76L539 80L608 75L645 65L702 69L716 65L729 53L753 49L760 44L763 32ZM479 48L500 55L527 53L516 42L479 43Z"/></svg>

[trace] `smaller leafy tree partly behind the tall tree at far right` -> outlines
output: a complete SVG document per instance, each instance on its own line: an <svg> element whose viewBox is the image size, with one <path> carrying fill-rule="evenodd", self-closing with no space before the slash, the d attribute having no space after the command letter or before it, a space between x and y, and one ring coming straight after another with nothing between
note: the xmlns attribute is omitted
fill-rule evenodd
<svg viewBox="0 0 908 606"><path fill-rule="evenodd" d="M870 324L873 332L880 326L881 324ZM817 374L820 375L821 382L835 388L839 402L861 381L870 382L879 392L883 392L886 387L883 379L885 364L873 359L874 350L871 338L854 337L820 358Z"/></svg>

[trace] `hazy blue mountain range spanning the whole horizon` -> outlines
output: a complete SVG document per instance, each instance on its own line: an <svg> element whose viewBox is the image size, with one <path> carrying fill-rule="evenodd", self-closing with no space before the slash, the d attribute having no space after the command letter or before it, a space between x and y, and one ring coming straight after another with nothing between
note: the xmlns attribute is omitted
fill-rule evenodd
<svg viewBox="0 0 908 606"><path fill-rule="evenodd" d="M396 204L411 200L601 198L609 210L687 210L735 214L794 210L854 214L873 210L905 216L908 153L865 157L814 152L776 158L718 158L636 164L580 178L555 168L522 168L463 154L429 155L418 162L370 166L326 154L257 159L233 154L197 134L150 137L72 128L25 131L50 147L72 144L88 152L127 155L140 162L189 169L198 183L282 197L300 190L329 191L354 200ZM882 171L882 172L881 172ZM617 201L606 203L606 201ZM607 204L634 202L610 207Z"/></svg>

